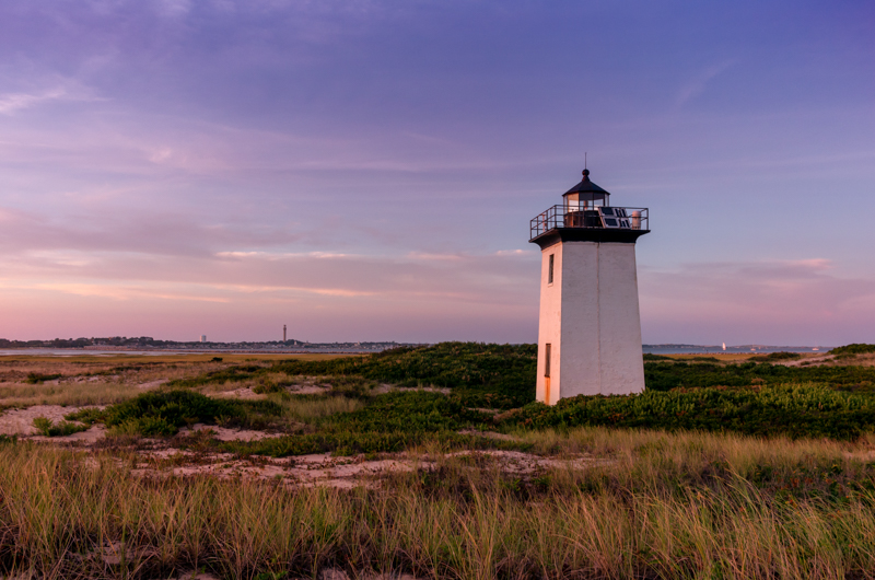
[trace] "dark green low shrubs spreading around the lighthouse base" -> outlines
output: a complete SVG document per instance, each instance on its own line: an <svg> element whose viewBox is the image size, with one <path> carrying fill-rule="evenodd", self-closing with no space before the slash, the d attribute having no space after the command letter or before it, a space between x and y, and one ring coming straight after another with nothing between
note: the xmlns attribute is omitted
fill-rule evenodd
<svg viewBox="0 0 875 580"><path fill-rule="evenodd" d="M534 403L532 346L446 343L370 357L235 364L175 380L160 392L110 406L100 420L116 431L145 436L174 434L195 422L282 424L298 432L288 441L271 442L270 451L265 451L267 443L253 445L271 455L365 448L395 451L405 446L401 441L408 441L406 446L419 444L425 433L448 440L464 429L506 431L515 426L692 429L841 440L875 428L875 368L780 363L796 357L775 352L754 357L769 362L726 363L713 357L651 356L656 360L645 362L648 390L641 395L580 396L547 407ZM290 394L288 387L304 378L331 388L315 395ZM376 394L375 387L385 383L445 388L448 394L404 388ZM196 392L240 385L269 398L225 401ZM296 422L310 428L295 429ZM371 442L357 446L348 436Z"/></svg>

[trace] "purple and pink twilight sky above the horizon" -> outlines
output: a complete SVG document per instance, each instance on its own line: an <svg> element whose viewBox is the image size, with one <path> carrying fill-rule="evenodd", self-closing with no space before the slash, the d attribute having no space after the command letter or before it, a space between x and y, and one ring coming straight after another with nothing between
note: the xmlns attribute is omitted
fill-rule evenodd
<svg viewBox="0 0 875 580"><path fill-rule="evenodd" d="M4 0L0 337L534 343L584 153L644 343L875 343L868 0Z"/></svg>

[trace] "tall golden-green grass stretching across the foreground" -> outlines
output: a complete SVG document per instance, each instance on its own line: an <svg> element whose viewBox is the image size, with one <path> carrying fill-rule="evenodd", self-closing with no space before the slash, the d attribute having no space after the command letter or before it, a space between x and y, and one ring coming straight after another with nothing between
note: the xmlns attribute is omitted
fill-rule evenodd
<svg viewBox="0 0 875 580"><path fill-rule="evenodd" d="M457 579L873 576L871 490L782 497L744 475L752 465L780 472L826 461L858 484L871 478L841 445L615 434L584 429L534 441L568 440L615 460L590 469L521 482L488 459L431 445L428 466L353 490L137 478L103 453L4 444L0 570L45 579L199 568L223 578L316 577L326 568ZM711 473L715 457L723 467ZM695 477L678 479L676 464Z"/></svg>

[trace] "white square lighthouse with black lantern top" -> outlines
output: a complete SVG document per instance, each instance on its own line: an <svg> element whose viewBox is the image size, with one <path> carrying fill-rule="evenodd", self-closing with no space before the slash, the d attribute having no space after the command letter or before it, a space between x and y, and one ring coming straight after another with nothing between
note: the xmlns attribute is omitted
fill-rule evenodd
<svg viewBox="0 0 875 580"><path fill-rule="evenodd" d="M541 251L537 399L644 390L635 242L646 208L616 207L590 179L532 220Z"/></svg>

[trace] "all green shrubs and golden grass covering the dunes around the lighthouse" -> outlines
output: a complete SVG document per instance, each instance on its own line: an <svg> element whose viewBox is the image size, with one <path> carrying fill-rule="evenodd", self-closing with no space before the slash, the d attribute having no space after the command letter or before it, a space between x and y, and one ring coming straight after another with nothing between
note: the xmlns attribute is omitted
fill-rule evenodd
<svg viewBox="0 0 875 580"><path fill-rule="evenodd" d="M0 436L0 577L872 578L867 347L831 351L843 366L648 356L644 393L551 407L534 401L529 345L19 367L0 404L67 388L106 407L34 426L108 437L84 453ZM314 453L405 468L352 489L173 475Z"/></svg>

